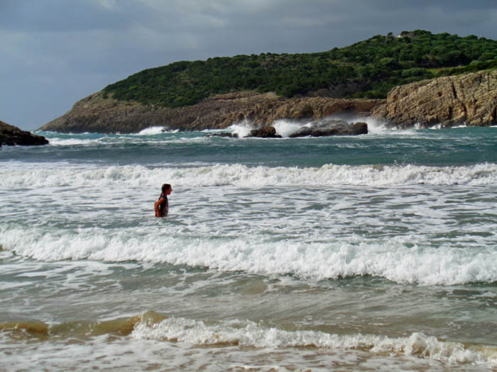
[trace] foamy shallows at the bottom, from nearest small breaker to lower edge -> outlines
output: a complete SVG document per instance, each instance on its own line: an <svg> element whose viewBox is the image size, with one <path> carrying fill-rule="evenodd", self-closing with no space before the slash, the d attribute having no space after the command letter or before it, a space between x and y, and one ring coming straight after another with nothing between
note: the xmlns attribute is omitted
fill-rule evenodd
<svg viewBox="0 0 497 372"><path fill-rule="evenodd" d="M170 317L139 323L129 337L92 337L87 342L20 342L1 337L9 370L220 371L476 371L497 366L495 346L464 345L422 333L406 337L287 331L254 322L209 325Z"/></svg>

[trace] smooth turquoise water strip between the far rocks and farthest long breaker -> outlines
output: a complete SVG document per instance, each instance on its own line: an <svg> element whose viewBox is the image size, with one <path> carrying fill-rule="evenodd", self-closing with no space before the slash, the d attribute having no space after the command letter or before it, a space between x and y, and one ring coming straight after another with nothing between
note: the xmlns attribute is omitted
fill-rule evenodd
<svg viewBox="0 0 497 372"><path fill-rule="evenodd" d="M214 164L320 167L324 164L466 165L495 162L495 128L373 131L359 137L284 138L282 140L205 137L209 133L155 135L64 135L53 147L11 150L11 157L30 161L101 162L102 164ZM270 142L268 142L270 141ZM71 145L73 144L73 145ZM270 145L271 144L271 145ZM9 148L2 159L9 159Z"/></svg>

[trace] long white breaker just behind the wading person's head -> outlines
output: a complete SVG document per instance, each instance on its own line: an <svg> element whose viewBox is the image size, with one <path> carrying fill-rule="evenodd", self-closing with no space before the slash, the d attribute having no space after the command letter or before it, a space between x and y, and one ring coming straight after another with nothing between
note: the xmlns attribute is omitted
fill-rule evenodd
<svg viewBox="0 0 497 372"><path fill-rule="evenodd" d="M459 167L417 165L351 166L325 164L322 167L247 167L241 164L215 164L204 167L156 167L141 165L82 168L35 167L18 169L5 164L0 171L0 187L22 186L109 186L122 182L144 186L168 179L177 186L403 186L414 184L473 186L494 185L497 164ZM11 169L9 169L11 168Z"/></svg>

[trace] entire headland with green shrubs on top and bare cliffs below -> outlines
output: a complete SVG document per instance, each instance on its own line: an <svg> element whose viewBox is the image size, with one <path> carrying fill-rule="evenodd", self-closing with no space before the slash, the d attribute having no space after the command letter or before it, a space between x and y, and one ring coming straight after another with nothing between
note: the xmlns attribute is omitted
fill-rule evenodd
<svg viewBox="0 0 497 372"><path fill-rule="evenodd" d="M497 123L497 42L427 31L306 55L241 55L146 69L40 130L136 133L250 120L373 115L390 125Z"/></svg>

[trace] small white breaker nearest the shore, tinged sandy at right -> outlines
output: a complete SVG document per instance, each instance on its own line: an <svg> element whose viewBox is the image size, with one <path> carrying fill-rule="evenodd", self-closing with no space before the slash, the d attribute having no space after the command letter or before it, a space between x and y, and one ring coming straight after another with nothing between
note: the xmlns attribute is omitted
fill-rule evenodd
<svg viewBox="0 0 497 372"><path fill-rule="evenodd" d="M175 340L190 345L236 344L257 348L315 347L318 349L359 349L371 354L396 354L430 358L449 363L497 364L494 346L464 346L413 333L391 338L373 334L329 334L319 331L285 331L264 328L254 322L232 321L206 325L202 321L170 317L154 325L141 322L132 336L136 339Z"/></svg>

